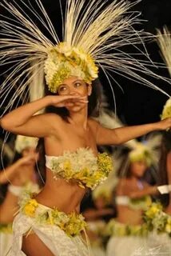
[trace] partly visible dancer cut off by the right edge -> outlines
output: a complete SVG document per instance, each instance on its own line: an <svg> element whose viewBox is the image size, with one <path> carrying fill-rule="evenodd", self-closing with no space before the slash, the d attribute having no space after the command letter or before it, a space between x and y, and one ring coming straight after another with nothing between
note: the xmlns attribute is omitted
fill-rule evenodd
<svg viewBox="0 0 171 256"><path fill-rule="evenodd" d="M158 45L171 75L171 35L167 27L158 30ZM171 118L171 98L165 102L161 120ZM161 158L159 162L158 183L161 185L159 201L153 203L145 212L145 221L150 233L149 248L158 248L155 255L171 254L171 131L162 132Z"/></svg>

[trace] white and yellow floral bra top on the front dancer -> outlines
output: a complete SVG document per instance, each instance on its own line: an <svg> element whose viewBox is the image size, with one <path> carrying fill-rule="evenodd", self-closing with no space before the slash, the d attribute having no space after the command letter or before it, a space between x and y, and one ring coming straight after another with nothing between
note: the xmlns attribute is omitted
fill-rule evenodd
<svg viewBox="0 0 171 256"><path fill-rule="evenodd" d="M89 148L65 151L58 157L46 155L46 167L52 170L54 178L78 182L79 186L91 190L101 184L113 170L112 159L108 154L99 153L96 157Z"/></svg>

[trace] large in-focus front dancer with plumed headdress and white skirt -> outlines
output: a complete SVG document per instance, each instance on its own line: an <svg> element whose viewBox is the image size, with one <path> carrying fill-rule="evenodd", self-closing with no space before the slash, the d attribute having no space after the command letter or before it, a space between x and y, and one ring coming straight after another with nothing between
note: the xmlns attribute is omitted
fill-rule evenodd
<svg viewBox="0 0 171 256"><path fill-rule="evenodd" d="M29 78L33 66L28 67L33 60L37 61L34 67L44 68L50 90L48 96L20 106L1 119L5 130L44 138L46 152L46 184L41 193L34 198L30 195L21 203L20 213L14 220L10 255L87 256L90 252L80 236L86 226L80 214L80 203L86 190L93 190L112 170L111 159L107 154L98 154L97 145L120 144L153 130L165 130L171 123L165 119L110 130L91 119L94 107L100 103L96 94L99 85L94 81L98 77L98 67L108 77L109 71L125 72L136 81L157 89L135 71L158 78L143 65L145 62L118 50L121 45L142 42L141 33L132 28L137 22L137 13L125 16L135 2L113 1L105 6L104 2L96 0L86 2L87 5L84 0L68 0L63 19L63 42L59 42L41 1L36 2L39 13L31 4L22 3L49 30L53 42L18 4L3 2L2 6L14 19L12 24L11 20L0 23L2 34L5 34L1 40L2 62L14 61L14 70L0 92L4 94L26 75L28 80L22 80L14 98L24 94L34 76ZM117 54L110 51L114 46ZM16 64L18 54L21 58ZM14 78L21 68L22 74ZM9 82L11 78L13 82ZM13 106L14 98L10 99L6 110ZM34 115L42 108L49 113Z"/></svg>

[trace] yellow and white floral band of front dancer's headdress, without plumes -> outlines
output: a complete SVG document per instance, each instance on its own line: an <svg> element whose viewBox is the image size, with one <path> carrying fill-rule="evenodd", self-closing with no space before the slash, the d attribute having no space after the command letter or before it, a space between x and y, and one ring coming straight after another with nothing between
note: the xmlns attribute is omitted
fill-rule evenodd
<svg viewBox="0 0 171 256"><path fill-rule="evenodd" d="M45 61L46 83L53 93L72 75L91 83L97 78L97 72L97 66L89 54L66 42L60 42L58 46L51 48Z"/></svg>

